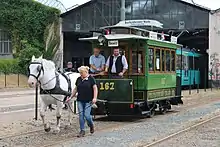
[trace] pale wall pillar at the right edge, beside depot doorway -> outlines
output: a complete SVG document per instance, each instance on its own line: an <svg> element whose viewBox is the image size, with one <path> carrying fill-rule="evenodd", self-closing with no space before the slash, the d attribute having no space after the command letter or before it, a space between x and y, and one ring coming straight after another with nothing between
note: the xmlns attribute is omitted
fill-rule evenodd
<svg viewBox="0 0 220 147"><path fill-rule="evenodd" d="M209 17L209 73L210 80L220 80L220 11Z"/></svg>

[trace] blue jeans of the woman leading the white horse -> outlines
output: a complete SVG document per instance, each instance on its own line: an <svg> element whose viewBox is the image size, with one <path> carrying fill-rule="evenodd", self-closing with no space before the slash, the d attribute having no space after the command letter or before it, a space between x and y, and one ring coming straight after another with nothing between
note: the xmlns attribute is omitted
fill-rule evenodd
<svg viewBox="0 0 220 147"><path fill-rule="evenodd" d="M77 101L77 106L78 106L78 113L79 113L79 125L80 125L80 130L84 131L85 130L85 119L88 123L88 126L93 126L93 121L92 121L92 116L90 115L91 113L91 103L89 102L81 102Z"/></svg>

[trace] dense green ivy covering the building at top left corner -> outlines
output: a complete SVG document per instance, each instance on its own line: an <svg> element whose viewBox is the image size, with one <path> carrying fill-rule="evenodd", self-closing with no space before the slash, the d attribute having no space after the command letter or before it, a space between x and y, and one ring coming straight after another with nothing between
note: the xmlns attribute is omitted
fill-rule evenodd
<svg viewBox="0 0 220 147"><path fill-rule="evenodd" d="M60 11L34 0L0 0L0 24L12 36L13 51L22 49L21 40L44 50L44 32L59 20Z"/></svg>

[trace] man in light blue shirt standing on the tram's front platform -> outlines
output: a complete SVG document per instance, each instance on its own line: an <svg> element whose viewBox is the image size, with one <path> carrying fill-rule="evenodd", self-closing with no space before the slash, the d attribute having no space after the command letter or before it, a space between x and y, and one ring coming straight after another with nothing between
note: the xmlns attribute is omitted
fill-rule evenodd
<svg viewBox="0 0 220 147"><path fill-rule="evenodd" d="M94 48L93 55L89 58L90 72L97 74L104 71L105 68L105 57L100 54L99 48Z"/></svg>

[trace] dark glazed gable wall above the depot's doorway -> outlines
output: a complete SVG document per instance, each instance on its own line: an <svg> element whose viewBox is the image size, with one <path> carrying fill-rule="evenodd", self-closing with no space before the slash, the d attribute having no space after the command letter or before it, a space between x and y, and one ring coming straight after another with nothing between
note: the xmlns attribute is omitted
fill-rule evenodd
<svg viewBox="0 0 220 147"><path fill-rule="evenodd" d="M208 11L176 0L126 0L126 20L154 19L165 29L208 28ZM120 21L120 0L96 0L63 16L63 31L89 31ZM201 19L202 18L202 19Z"/></svg>

